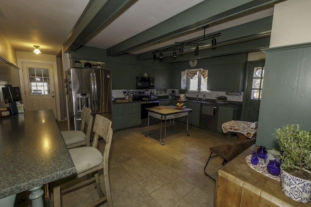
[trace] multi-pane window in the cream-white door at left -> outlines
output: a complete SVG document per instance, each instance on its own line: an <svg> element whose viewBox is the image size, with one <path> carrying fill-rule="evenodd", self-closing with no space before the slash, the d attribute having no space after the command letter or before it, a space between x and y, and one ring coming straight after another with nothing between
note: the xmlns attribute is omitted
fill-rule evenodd
<svg viewBox="0 0 311 207"><path fill-rule="evenodd" d="M31 95L51 94L48 68L28 68L28 76Z"/></svg>

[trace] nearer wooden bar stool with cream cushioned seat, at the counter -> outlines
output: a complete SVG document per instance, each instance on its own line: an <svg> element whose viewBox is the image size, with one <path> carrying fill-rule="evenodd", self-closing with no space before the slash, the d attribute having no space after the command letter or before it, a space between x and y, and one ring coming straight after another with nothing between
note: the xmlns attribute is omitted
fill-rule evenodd
<svg viewBox="0 0 311 207"><path fill-rule="evenodd" d="M95 117L93 131L95 134L92 146L69 149L71 159L77 172L69 178L67 177L53 183L54 207L61 206L61 194L73 191L92 182L95 182L100 198L88 206L97 206L104 201L107 201L108 207L113 206L108 174L108 159L113 134L111 121L104 116L97 114ZM103 154L97 149L99 137L102 137L105 141ZM98 175L98 171L101 169L104 170L104 187L100 184ZM85 176L88 179L77 183L76 179L82 176Z"/></svg>

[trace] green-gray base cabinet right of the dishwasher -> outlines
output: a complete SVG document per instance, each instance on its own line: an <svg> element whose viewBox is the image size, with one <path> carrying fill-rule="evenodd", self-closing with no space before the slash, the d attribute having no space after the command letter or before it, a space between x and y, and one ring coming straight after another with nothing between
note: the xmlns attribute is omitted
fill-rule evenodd
<svg viewBox="0 0 311 207"><path fill-rule="evenodd" d="M218 107L218 120L217 120L217 131L223 133L222 125L225 122L231 120L241 119L241 109L242 106L219 106Z"/></svg>

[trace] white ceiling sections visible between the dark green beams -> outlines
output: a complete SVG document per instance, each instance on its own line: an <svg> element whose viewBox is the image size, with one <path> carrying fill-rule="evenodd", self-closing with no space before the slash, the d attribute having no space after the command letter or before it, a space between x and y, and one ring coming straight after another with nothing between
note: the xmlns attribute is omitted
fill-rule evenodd
<svg viewBox="0 0 311 207"><path fill-rule="evenodd" d="M17 51L32 52L40 46L43 54L57 55L70 31L83 13L88 0L0 0L0 32ZM86 43L95 48L110 48L203 0L137 0L103 31ZM273 8L215 24L207 33L271 16ZM203 35L203 30L161 41L148 48L132 51L138 54L174 42Z"/></svg>

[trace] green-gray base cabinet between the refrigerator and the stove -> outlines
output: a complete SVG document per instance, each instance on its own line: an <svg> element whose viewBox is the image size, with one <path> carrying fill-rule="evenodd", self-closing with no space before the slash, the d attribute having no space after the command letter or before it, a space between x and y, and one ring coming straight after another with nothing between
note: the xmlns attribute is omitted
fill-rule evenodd
<svg viewBox="0 0 311 207"><path fill-rule="evenodd" d="M112 105L112 129L140 125L140 102Z"/></svg>

